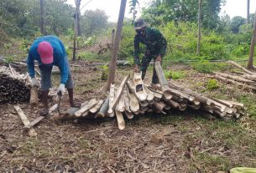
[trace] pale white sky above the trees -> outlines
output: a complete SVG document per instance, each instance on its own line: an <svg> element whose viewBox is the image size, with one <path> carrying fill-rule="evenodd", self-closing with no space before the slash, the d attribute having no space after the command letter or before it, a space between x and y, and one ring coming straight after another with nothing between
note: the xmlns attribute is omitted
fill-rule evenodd
<svg viewBox="0 0 256 173"><path fill-rule="evenodd" d="M121 0L81 0L81 13L83 13L85 10L96 10L101 9L104 10L105 13L107 13L107 16L109 17L108 20L111 22L117 22L118 21L118 13L120 8ZM223 15L224 13L227 13L230 18L233 18L234 16L242 16L243 18L246 18L247 16L247 0L226 0L227 3L225 6L222 7L222 12L220 15ZM129 2L129 0L127 0ZM140 15L140 11L144 7L148 7L150 0L139 0L140 4L138 6L138 17ZM75 6L75 0L67 0L67 3ZM86 4L87 3L87 4ZM83 7L86 4L85 7ZM125 10L125 17L126 18L132 18L132 15L128 13L129 11L129 4L126 5ZM256 0L250 0L250 13L254 13L256 10Z"/></svg>

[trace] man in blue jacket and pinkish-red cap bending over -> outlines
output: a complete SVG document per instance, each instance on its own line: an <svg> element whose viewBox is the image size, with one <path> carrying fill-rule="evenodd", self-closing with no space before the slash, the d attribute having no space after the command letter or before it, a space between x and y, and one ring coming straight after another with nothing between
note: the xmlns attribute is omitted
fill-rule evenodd
<svg viewBox="0 0 256 173"><path fill-rule="evenodd" d="M51 70L53 65L60 69L60 86L57 93L65 94L65 88L69 93L71 107L79 107L80 104L74 103L73 88L74 83L71 78L71 68L68 64L67 55L63 43L55 36L43 36L37 38L29 49L29 56L27 59L29 76L31 78L32 86L38 85L34 78L34 60L39 62L39 69L41 74L41 89L44 108L40 115L49 114L48 94L51 87Z"/></svg>

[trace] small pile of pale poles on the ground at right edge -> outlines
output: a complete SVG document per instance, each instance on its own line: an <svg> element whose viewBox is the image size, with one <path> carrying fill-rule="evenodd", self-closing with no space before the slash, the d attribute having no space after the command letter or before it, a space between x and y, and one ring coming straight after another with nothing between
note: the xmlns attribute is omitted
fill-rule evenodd
<svg viewBox="0 0 256 173"><path fill-rule="evenodd" d="M249 71L248 69L243 68L241 65L228 61L228 63L238 67L243 70L241 75L238 74L223 74L215 72L214 78L227 82L229 84L235 84L242 89L253 89L256 91L256 73Z"/></svg>

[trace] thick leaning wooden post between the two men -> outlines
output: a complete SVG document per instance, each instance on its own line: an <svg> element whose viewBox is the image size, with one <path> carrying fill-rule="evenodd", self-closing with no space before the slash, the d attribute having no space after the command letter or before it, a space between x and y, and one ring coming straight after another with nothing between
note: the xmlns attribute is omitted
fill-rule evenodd
<svg viewBox="0 0 256 173"><path fill-rule="evenodd" d="M107 90L110 88L110 84L114 84L115 81L115 73L117 68L117 59L118 59L118 50L119 50L119 43L121 40L121 33L123 28L123 18L125 13L125 7L126 7L127 0L122 0L119 10L119 16L118 16L118 28L115 35L115 41L114 46L112 50L112 59L109 64L109 73L107 76Z"/></svg>

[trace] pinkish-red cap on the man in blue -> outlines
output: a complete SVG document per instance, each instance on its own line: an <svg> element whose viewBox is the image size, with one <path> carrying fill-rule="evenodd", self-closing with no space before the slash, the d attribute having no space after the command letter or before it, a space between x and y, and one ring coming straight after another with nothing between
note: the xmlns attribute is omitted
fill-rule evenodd
<svg viewBox="0 0 256 173"><path fill-rule="evenodd" d="M54 49L49 42L39 43L37 51L43 64L52 64L54 61Z"/></svg>

